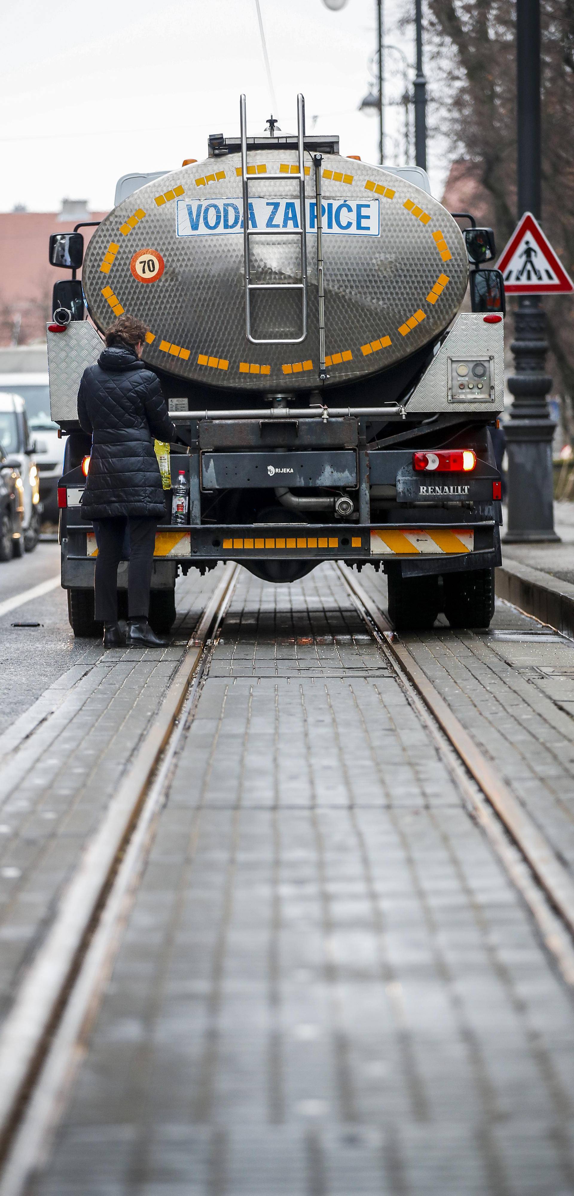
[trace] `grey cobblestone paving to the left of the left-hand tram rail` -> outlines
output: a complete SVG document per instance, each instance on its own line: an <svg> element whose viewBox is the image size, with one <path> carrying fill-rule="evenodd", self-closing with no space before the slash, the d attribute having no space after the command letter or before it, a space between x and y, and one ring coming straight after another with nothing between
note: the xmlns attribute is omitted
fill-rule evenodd
<svg viewBox="0 0 574 1196"><path fill-rule="evenodd" d="M178 620L165 649L104 652L78 640L72 666L54 667L49 688L0 734L0 1020L219 575L194 570L178 582ZM62 592L47 599L61 606Z"/></svg>

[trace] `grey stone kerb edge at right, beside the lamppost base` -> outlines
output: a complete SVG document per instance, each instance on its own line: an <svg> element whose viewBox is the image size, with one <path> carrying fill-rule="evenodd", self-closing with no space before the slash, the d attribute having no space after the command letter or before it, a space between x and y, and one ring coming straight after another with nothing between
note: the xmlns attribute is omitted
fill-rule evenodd
<svg viewBox="0 0 574 1196"><path fill-rule="evenodd" d="M495 573L495 592L497 598L574 640L574 585L569 581L506 559Z"/></svg>

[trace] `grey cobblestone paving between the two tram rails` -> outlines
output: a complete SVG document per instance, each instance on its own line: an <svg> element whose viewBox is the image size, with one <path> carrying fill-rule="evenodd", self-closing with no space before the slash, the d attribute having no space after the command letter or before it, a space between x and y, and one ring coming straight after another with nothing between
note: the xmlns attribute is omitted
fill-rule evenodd
<svg viewBox="0 0 574 1196"><path fill-rule="evenodd" d="M541 703L549 740L570 715L512 640L411 642L459 716L457 654L490 669L480 734L503 689L554 808ZM569 1196L573 1062L572 995L341 576L242 574L28 1196Z"/></svg>

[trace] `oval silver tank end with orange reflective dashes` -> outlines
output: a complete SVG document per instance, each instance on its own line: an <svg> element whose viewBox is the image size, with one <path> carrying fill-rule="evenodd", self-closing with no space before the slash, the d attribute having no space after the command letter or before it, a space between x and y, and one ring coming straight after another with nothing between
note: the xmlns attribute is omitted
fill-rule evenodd
<svg viewBox="0 0 574 1196"><path fill-rule="evenodd" d="M306 154L311 163L311 155ZM297 153L249 154L251 281L297 282ZM265 173L285 181L264 182ZM468 282L463 237L429 195L378 166L323 159L326 386L386 370L434 341L457 313ZM307 335L303 343L252 344L245 335L240 155L208 158L148 183L118 205L92 237L83 282L90 315L105 330L128 312L145 321L144 358L193 382L254 392L319 385L315 171L307 209ZM270 227L267 236L267 227ZM255 294L252 334L297 337L300 293Z"/></svg>

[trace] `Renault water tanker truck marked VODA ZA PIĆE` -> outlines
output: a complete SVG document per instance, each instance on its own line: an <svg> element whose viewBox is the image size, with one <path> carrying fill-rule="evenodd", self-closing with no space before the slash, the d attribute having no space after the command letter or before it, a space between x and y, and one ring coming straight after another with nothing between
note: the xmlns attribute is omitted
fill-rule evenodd
<svg viewBox="0 0 574 1196"><path fill-rule="evenodd" d="M55 233L48 325L62 586L77 635L97 633L96 539L81 513L90 439L81 373L128 312L188 452L159 446L151 622L175 620L179 572L239 561L273 582L323 561L383 566L398 628L487 627L500 563L503 286L490 230L459 224L416 167L344 158L338 138L212 135L208 157L124 176L94 230ZM136 189L134 189L134 187ZM471 311L462 311L469 285ZM77 269L83 266L81 282ZM90 319L86 318L86 312ZM126 545L126 557L129 545ZM120 566L124 600L127 566Z"/></svg>

